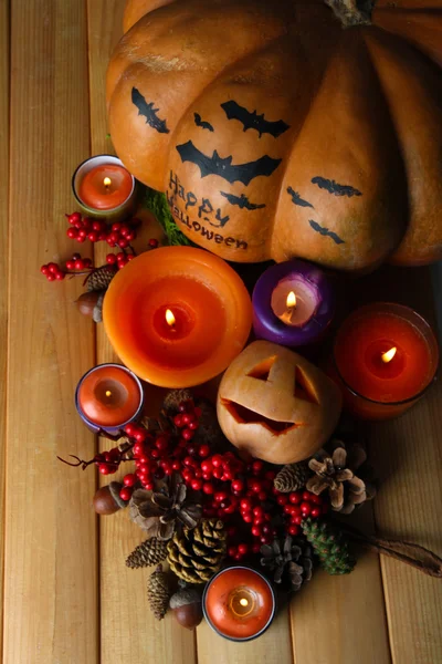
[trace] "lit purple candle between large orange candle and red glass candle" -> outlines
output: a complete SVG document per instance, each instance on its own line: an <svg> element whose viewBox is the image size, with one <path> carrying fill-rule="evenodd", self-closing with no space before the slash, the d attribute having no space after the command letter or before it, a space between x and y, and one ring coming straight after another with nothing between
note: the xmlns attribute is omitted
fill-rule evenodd
<svg viewBox="0 0 442 664"><path fill-rule="evenodd" d="M296 347L322 336L335 312L335 293L319 268L295 259L265 270L252 303L256 338Z"/></svg>

